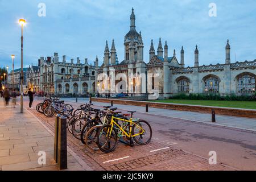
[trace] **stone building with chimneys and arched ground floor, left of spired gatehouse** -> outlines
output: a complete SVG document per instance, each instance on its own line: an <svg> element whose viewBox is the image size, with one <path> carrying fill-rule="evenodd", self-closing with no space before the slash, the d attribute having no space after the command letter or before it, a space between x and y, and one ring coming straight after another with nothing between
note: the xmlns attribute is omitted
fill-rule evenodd
<svg viewBox="0 0 256 182"><path fill-rule="evenodd" d="M94 93L95 66L88 64L88 59L76 63L71 59L59 61L58 53L54 57L40 57L40 89L48 94L85 95Z"/></svg>

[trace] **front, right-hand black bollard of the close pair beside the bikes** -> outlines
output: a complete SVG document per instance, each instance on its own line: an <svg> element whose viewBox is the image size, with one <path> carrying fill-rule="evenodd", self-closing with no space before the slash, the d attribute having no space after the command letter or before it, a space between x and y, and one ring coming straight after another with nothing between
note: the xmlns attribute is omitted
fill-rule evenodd
<svg viewBox="0 0 256 182"><path fill-rule="evenodd" d="M67 118L59 118L59 137L58 137L58 152L57 166L60 170L68 168L67 158Z"/></svg>

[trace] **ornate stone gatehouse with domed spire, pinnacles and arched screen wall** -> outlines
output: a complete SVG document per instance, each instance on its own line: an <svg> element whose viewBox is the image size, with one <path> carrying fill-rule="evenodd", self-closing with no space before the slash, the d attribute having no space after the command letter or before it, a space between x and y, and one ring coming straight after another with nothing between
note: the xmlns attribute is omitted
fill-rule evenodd
<svg viewBox="0 0 256 182"><path fill-rule="evenodd" d="M229 40L225 47L226 60L216 65L199 65L197 46L193 67L185 67L183 47L180 51L180 61L176 57L175 49L172 51L173 55L168 56L167 42L163 48L161 38L157 53L151 41L147 63L143 57L143 48L142 34L135 29L135 14L132 9L130 31L125 35L124 40L124 60L119 63L116 59L114 40L110 50L106 42L104 61L100 67L96 59L96 90L114 94L117 86L123 93L131 94L138 90L136 93L138 96L142 94L151 96L153 93L158 93L158 98L168 98L179 93L221 95L255 93L256 60L232 63ZM108 75L107 81L104 81L105 78L101 73ZM123 76L116 77L119 73ZM136 74L135 77L129 77L134 74ZM140 75L146 75L146 79L143 80ZM149 92L150 90L154 92Z"/></svg>

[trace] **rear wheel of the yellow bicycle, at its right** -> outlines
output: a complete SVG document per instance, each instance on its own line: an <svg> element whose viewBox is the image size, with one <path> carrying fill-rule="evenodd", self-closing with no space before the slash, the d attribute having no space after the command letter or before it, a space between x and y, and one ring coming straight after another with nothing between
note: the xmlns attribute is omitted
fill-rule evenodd
<svg viewBox="0 0 256 182"><path fill-rule="evenodd" d="M148 122L140 120L133 125L132 135L134 141L140 145L148 144L152 138L152 129Z"/></svg>

